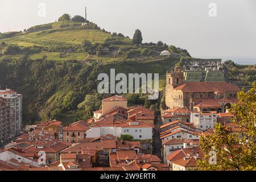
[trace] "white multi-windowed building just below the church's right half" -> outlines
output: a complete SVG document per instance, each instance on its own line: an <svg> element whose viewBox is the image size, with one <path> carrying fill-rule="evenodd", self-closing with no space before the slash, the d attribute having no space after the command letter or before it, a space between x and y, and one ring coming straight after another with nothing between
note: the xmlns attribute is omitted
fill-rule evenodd
<svg viewBox="0 0 256 182"><path fill-rule="evenodd" d="M216 111L193 111L191 113L191 122L201 130L212 129L217 123Z"/></svg>

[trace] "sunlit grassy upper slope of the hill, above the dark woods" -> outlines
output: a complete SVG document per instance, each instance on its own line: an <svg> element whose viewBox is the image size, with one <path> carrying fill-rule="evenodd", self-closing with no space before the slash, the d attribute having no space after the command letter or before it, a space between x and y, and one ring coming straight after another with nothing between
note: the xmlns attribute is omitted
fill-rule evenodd
<svg viewBox="0 0 256 182"><path fill-rule="evenodd" d="M28 59L96 60L105 63L127 59L159 59L159 53L168 51L189 57L186 50L167 46L162 42L134 46L129 37L112 34L97 24L64 20L30 27L23 32L0 34L0 60Z"/></svg>

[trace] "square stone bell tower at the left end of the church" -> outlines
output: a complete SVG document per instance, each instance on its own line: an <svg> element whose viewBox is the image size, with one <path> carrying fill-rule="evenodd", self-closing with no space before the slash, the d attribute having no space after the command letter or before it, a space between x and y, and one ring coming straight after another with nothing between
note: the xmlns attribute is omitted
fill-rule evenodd
<svg viewBox="0 0 256 182"><path fill-rule="evenodd" d="M173 92L176 86L183 84L184 75L181 68L175 68L175 71L171 73L166 73L166 106L174 107L174 105L179 105L179 107L184 107L183 105L183 92Z"/></svg>

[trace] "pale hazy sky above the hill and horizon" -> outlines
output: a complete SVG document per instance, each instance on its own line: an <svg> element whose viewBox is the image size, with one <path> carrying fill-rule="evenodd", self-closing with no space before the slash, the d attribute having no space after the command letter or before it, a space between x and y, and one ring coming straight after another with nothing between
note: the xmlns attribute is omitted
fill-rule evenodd
<svg viewBox="0 0 256 182"><path fill-rule="evenodd" d="M161 40L193 57L256 64L255 0L1 0L0 32L54 22L64 13L84 16L85 5L88 20L107 31L132 38L139 28L143 42Z"/></svg>

